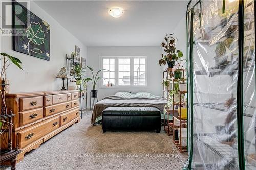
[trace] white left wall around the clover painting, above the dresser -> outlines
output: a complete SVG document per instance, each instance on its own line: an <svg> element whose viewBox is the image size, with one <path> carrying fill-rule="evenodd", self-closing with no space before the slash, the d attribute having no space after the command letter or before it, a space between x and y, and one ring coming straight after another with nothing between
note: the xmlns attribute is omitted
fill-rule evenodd
<svg viewBox="0 0 256 170"><path fill-rule="evenodd" d="M30 3L30 11L48 22L51 27L50 61L13 51L12 37L2 36L0 51L19 58L23 67L23 71L15 65L8 68L7 79L10 80L10 92L59 90L62 87L62 80L55 77L60 68L66 66L65 55L74 51L77 45L81 48L81 56L85 58L87 48L34 2ZM9 14L12 15L11 11Z"/></svg>

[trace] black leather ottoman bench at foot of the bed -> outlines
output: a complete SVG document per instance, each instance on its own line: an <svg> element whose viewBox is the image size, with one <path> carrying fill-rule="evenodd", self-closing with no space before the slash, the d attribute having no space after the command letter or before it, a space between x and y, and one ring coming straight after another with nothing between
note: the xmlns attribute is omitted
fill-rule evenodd
<svg viewBox="0 0 256 170"><path fill-rule="evenodd" d="M161 112L155 107L108 107L102 113L102 130L161 130Z"/></svg>

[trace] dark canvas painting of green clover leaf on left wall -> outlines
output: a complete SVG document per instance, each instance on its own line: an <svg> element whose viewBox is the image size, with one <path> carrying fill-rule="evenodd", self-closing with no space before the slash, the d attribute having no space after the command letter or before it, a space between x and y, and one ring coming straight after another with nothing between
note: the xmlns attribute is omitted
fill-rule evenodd
<svg viewBox="0 0 256 170"><path fill-rule="evenodd" d="M13 34L13 50L44 60L50 60L50 25L13 1L12 25L16 31Z"/></svg>

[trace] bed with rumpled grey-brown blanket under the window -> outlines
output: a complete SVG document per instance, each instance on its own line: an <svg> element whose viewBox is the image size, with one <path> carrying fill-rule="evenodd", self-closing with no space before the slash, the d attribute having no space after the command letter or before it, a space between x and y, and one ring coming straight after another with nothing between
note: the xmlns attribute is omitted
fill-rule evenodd
<svg viewBox="0 0 256 170"><path fill-rule="evenodd" d="M96 119L102 116L103 110L108 107L156 107L163 112L163 98L147 92L130 93L117 92L97 102L93 107L91 124L95 125Z"/></svg>

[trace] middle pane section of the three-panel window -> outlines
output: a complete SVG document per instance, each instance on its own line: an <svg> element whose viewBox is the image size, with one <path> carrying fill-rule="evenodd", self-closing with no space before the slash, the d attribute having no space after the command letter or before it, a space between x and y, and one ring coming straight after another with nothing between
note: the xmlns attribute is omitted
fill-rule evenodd
<svg viewBox="0 0 256 170"><path fill-rule="evenodd" d="M130 58L118 59L118 85L130 85Z"/></svg>

